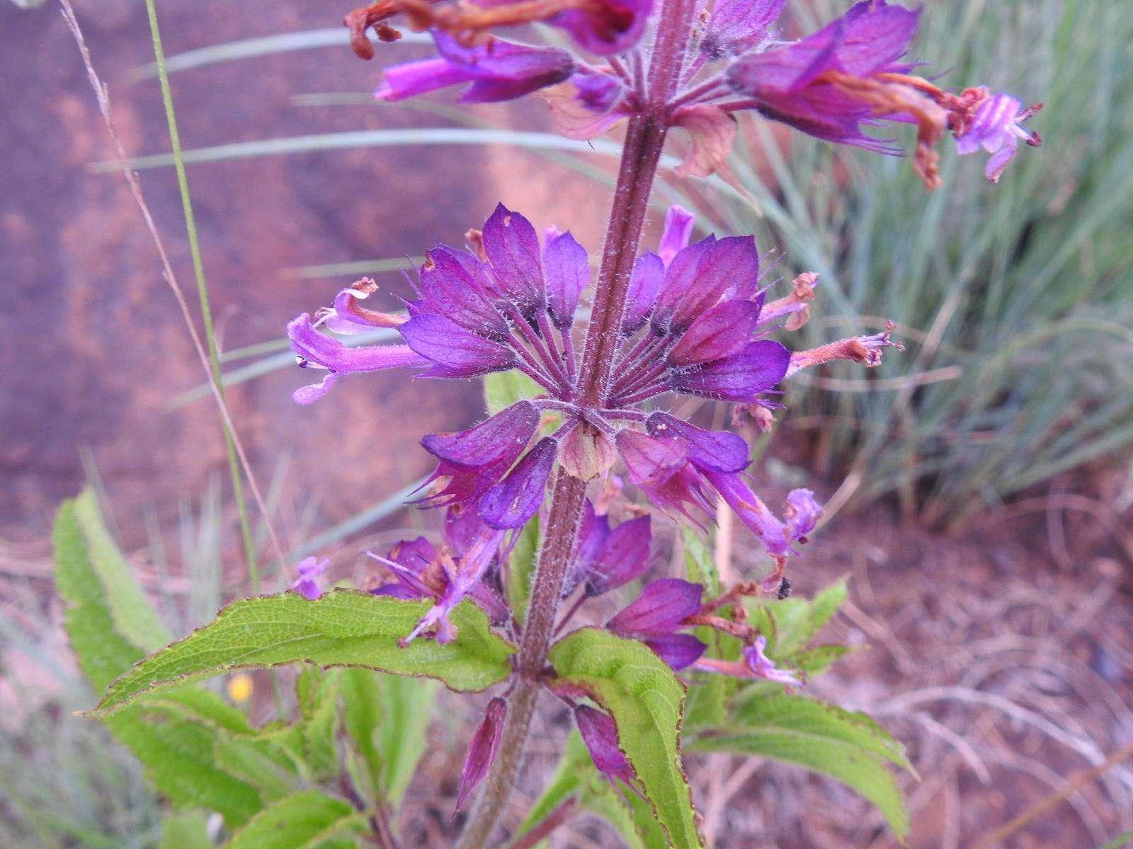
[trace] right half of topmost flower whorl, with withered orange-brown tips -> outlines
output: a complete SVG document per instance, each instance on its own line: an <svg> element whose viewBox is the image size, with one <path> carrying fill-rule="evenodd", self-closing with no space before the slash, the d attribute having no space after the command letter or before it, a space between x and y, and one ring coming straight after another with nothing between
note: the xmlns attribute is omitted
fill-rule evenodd
<svg viewBox="0 0 1133 849"><path fill-rule="evenodd" d="M991 180L998 180L1019 139L1039 143L1019 126L1036 108L1021 111L1019 101L989 97L986 88L949 94L910 76L915 63L904 54L920 10L863 0L800 41L755 50L782 5L725 0L714 7L699 61L746 52L725 71L726 84L741 96L727 109L756 109L811 136L884 154L900 149L863 128L881 121L915 123L913 168L929 189L940 185L934 146L946 130L960 153L982 145L993 154L987 168Z"/></svg>

